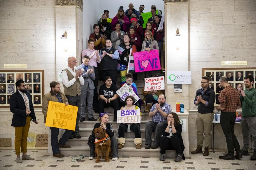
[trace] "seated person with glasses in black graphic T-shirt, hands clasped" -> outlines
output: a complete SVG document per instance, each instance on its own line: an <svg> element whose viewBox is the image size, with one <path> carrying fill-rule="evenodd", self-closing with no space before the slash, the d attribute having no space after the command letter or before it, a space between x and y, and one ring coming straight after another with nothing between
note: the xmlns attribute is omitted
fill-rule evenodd
<svg viewBox="0 0 256 170"><path fill-rule="evenodd" d="M99 89L99 115L100 113L104 113L104 109L106 107L114 108L114 122L116 122L116 114L117 110L119 110L119 102L118 95L116 94L117 87L112 84L112 79L110 76L106 76L104 80L104 84L100 86Z"/></svg>

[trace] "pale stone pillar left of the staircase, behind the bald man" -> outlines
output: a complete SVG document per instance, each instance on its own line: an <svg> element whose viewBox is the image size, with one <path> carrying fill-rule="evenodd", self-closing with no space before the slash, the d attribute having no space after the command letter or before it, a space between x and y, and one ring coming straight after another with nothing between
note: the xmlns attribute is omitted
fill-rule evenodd
<svg viewBox="0 0 256 170"><path fill-rule="evenodd" d="M83 0L56 1L55 6L55 37L56 37L56 74L68 66L68 57L77 59L77 66L81 64L83 49ZM67 51L64 51L62 34L67 32Z"/></svg>

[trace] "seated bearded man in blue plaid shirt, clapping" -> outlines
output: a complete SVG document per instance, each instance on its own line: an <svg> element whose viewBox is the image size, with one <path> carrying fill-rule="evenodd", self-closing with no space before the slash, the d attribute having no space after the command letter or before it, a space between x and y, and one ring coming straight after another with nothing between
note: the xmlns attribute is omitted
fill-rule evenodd
<svg viewBox="0 0 256 170"><path fill-rule="evenodd" d="M162 126L167 122L167 116L172 111L172 108L169 104L165 103L165 95L160 94L158 96L158 103L154 104L148 114L149 117L152 117L152 121L147 122L146 124L146 149L151 147L151 135L152 132L155 132L154 142L152 149L159 147L160 136L163 131Z"/></svg>

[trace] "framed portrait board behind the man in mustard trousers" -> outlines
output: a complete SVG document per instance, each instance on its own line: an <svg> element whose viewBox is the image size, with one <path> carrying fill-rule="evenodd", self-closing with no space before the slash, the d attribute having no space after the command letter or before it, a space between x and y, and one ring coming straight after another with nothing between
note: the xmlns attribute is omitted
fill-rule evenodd
<svg viewBox="0 0 256 170"><path fill-rule="evenodd" d="M0 70L0 107L9 107L10 97L17 91L15 83L23 80L34 107L42 106L44 70Z"/></svg>

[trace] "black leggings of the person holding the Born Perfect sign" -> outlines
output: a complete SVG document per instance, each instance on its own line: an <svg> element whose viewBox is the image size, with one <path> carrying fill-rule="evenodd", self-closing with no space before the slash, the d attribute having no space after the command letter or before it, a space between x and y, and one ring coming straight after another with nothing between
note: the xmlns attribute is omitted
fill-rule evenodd
<svg viewBox="0 0 256 170"><path fill-rule="evenodd" d="M118 128L118 137L124 138L124 133L127 132L128 124L121 123ZM134 132L135 138L141 138L141 125L139 123L133 123L131 130Z"/></svg>

